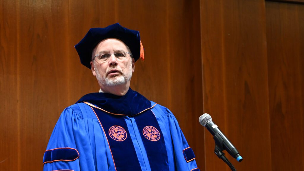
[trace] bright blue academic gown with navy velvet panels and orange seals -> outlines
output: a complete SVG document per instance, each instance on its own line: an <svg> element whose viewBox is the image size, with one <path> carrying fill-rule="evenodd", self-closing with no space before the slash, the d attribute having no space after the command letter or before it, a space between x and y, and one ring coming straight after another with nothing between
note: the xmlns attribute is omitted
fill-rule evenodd
<svg viewBox="0 0 304 171"><path fill-rule="evenodd" d="M43 170L199 171L170 110L129 89L90 93L60 115Z"/></svg>

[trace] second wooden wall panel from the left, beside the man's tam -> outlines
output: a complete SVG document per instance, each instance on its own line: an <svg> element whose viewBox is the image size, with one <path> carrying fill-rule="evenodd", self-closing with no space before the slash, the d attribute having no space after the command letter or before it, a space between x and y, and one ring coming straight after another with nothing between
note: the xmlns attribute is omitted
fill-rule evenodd
<svg viewBox="0 0 304 171"><path fill-rule="evenodd" d="M46 143L69 106L65 39L67 4L19 2L21 170L41 170Z"/></svg>

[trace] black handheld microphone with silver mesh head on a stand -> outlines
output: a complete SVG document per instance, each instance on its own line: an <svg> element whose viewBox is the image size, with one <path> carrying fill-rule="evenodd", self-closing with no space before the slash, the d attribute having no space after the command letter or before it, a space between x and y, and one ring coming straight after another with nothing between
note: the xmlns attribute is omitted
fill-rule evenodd
<svg viewBox="0 0 304 171"><path fill-rule="evenodd" d="M243 160L242 156L240 156L239 152L237 151L237 148L232 145L228 138L226 138L221 130L219 130L219 127L214 124L211 116L208 113L204 113L199 117L199 123L202 126L206 127L208 131L213 135L216 147L218 147L219 150L223 151L225 149L232 157L237 159L238 162L241 162ZM219 153L221 152L219 152L217 148L214 150L214 152L219 157Z"/></svg>

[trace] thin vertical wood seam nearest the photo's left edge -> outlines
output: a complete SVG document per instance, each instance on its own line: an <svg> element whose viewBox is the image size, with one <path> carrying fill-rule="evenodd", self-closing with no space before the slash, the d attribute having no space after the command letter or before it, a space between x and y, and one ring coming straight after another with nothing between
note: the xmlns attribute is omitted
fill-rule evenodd
<svg viewBox="0 0 304 171"><path fill-rule="evenodd" d="M20 38L20 6L19 6L20 2L16 1L16 26L17 26L17 33L16 33L16 39L17 39L17 45L16 45L16 56L17 56L17 60L16 60L16 68L17 68L17 72L16 72L16 78L17 78L17 169L18 171L20 171L20 51L19 51L19 38Z"/></svg>

